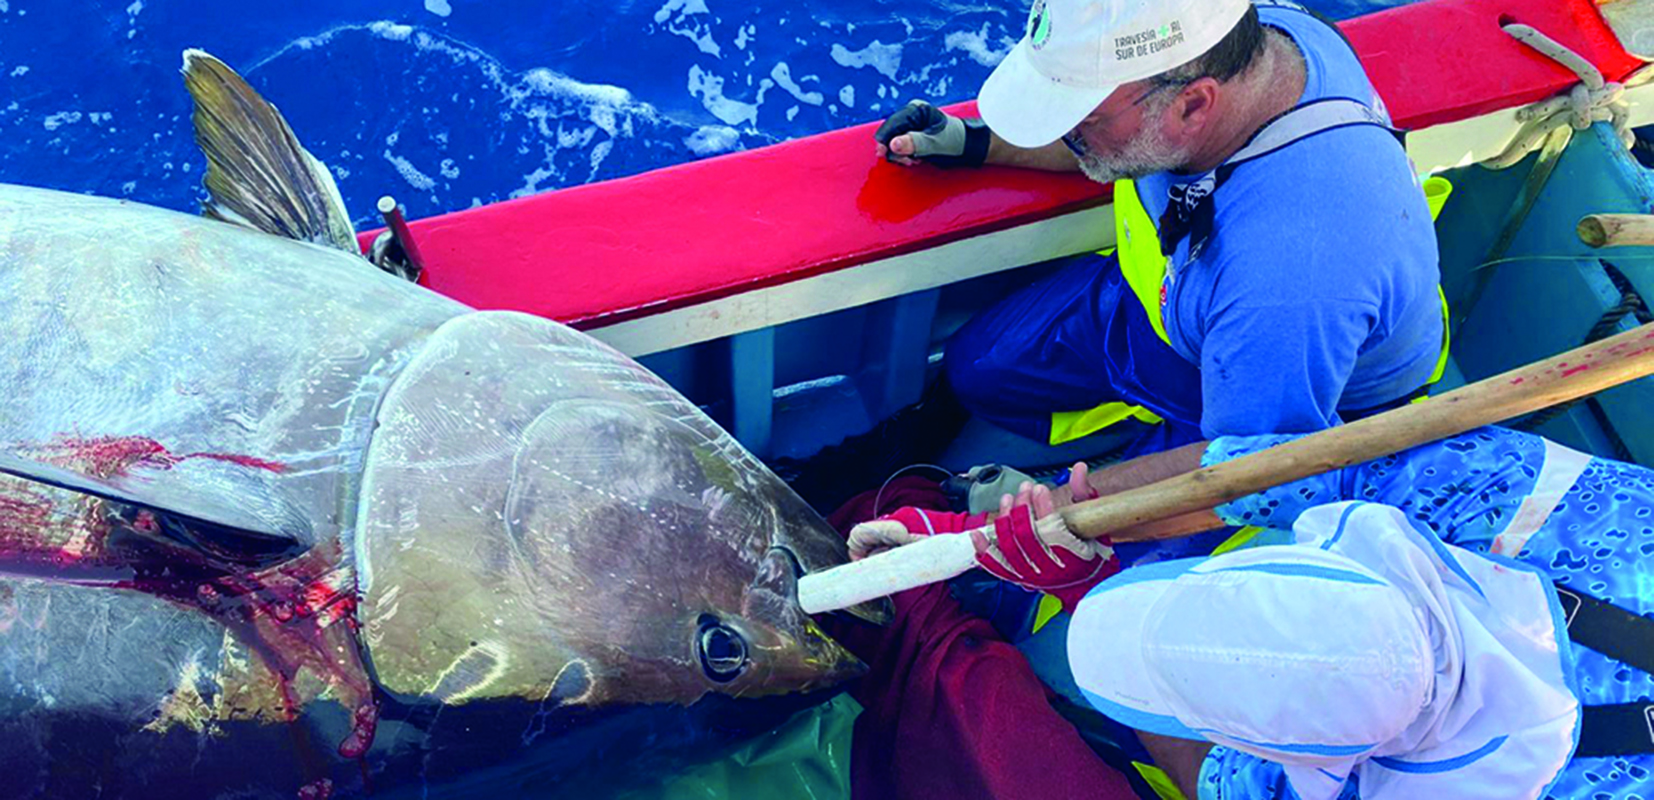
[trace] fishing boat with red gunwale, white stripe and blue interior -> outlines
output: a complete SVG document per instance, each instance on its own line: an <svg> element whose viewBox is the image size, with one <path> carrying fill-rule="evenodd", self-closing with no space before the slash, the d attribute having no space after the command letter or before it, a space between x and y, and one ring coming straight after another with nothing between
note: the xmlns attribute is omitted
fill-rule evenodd
<svg viewBox="0 0 1654 800"><path fill-rule="evenodd" d="M1580 233L1593 215L1654 212L1654 0L1424 0L1341 30L1437 212L1451 347L1432 393L1654 321L1651 251ZM1110 187L901 169L875 157L875 126L395 221L425 286L582 329L758 456L807 463L918 402L971 314L1115 245ZM364 250L380 233L362 231ZM1513 423L1654 464L1654 380ZM1121 443L1105 431L1054 446L971 421L938 463L1059 474ZM865 489L887 476L857 478ZM847 740L845 714L792 734ZM736 760L762 774L764 757ZM734 772L686 780L736 795L766 780Z"/></svg>

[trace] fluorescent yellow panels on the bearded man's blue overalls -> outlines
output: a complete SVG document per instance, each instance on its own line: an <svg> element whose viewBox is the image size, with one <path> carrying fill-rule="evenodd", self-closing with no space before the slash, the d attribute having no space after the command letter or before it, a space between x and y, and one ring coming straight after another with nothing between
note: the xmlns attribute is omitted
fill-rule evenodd
<svg viewBox="0 0 1654 800"><path fill-rule="evenodd" d="M1452 183L1447 179L1431 177L1424 180L1424 198L1431 208L1431 220L1441 215L1451 193ZM1138 302L1143 304L1143 311L1148 312L1148 321L1154 326L1154 334L1163 342L1171 344L1171 337L1166 336L1166 321L1161 314L1166 256L1159 251L1159 231L1154 228L1154 220L1143 208L1136 183L1131 180L1115 182L1115 248L1120 253L1120 274L1125 276L1126 286L1131 288L1131 294L1136 296ZM1102 255L1108 253L1110 250L1102 251ZM1442 293L1441 284L1436 286L1436 294L1441 298L1442 306L1442 350L1441 357L1436 359L1436 370L1426 385L1434 385L1447 372L1447 349L1451 344L1451 337L1447 336L1447 294ZM1424 397L1414 402L1419 400L1424 400ZM1121 420L1140 420L1150 425L1163 421L1141 405L1121 402L1110 402L1082 412L1054 412L1050 415L1050 443L1062 445L1073 441L1116 425Z"/></svg>

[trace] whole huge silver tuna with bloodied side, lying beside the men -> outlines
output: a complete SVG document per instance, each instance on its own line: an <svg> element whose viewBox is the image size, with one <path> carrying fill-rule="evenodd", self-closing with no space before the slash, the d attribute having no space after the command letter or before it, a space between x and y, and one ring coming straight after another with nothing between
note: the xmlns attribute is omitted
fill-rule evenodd
<svg viewBox="0 0 1654 800"><path fill-rule="evenodd" d="M584 797L857 674L786 484L342 251L275 109L185 78L213 218L0 185L0 797Z"/></svg>

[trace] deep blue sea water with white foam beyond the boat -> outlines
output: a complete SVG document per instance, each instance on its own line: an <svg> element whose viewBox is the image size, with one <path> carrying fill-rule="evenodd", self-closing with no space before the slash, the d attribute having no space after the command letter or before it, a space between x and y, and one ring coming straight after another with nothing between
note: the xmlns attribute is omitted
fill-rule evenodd
<svg viewBox="0 0 1654 800"><path fill-rule="evenodd" d="M1310 0L1353 17L1406 0ZM180 53L286 114L359 226L969 99L1024 0L0 0L0 182L197 208Z"/></svg>

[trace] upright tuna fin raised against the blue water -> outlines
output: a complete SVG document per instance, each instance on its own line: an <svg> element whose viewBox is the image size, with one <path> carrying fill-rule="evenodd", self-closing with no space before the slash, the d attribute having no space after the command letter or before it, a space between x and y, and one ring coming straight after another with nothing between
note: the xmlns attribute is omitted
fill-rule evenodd
<svg viewBox="0 0 1654 800"><path fill-rule="evenodd" d="M184 86L207 154L205 217L361 255L332 174L275 106L200 50L184 51Z"/></svg>

